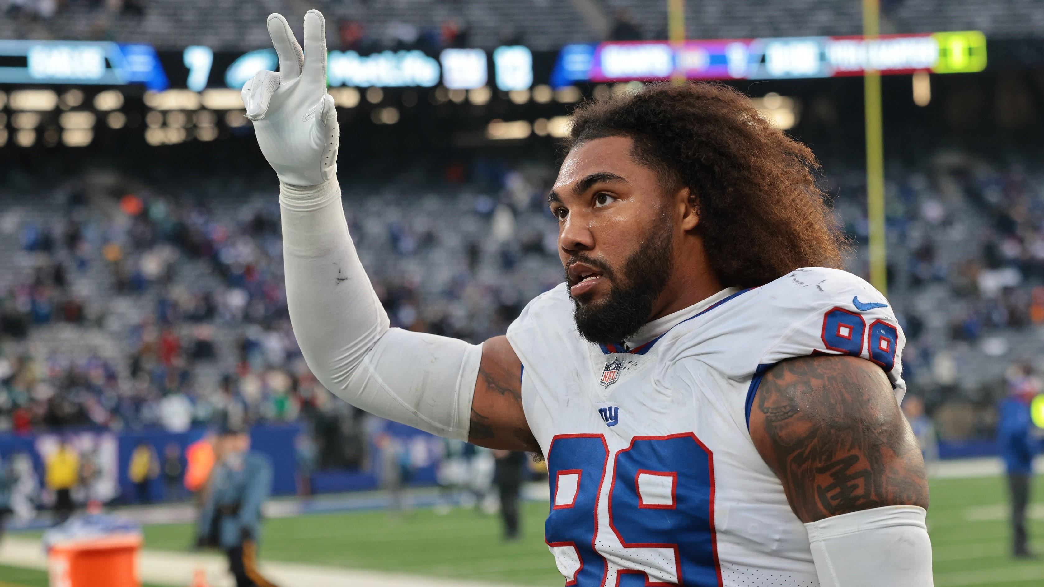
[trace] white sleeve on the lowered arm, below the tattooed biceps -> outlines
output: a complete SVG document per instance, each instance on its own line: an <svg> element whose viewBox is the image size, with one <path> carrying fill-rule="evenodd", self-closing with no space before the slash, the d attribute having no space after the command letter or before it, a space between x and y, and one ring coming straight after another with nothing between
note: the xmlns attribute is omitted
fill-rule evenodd
<svg viewBox="0 0 1044 587"><path fill-rule="evenodd" d="M932 587L924 508L887 506L805 524L821 587Z"/></svg>

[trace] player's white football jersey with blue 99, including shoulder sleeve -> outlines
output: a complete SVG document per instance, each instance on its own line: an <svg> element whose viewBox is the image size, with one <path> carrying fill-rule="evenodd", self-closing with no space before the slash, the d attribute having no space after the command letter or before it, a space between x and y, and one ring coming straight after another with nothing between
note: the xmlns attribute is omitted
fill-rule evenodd
<svg viewBox="0 0 1044 587"><path fill-rule="evenodd" d="M817 586L750 410L769 367L814 354L874 361L901 400L892 308L852 274L808 267L671 315L634 349L593 345L562 284L507 329L550 475L545 540L566 585Z"/></svg>

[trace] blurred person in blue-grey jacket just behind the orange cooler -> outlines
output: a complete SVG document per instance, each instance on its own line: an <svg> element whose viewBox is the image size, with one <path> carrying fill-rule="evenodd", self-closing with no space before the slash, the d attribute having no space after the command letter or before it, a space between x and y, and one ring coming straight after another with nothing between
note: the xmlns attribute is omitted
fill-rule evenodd
<svg viewBox="0 0 1044 587"><path fill-rule="evenodd" d="M236 587L269 587L257 566L261 507L271 492L271 464L250 450L251 437L238 423L222 424L220 459L211 473L199 516L197 543L224 550Z"/></svg>

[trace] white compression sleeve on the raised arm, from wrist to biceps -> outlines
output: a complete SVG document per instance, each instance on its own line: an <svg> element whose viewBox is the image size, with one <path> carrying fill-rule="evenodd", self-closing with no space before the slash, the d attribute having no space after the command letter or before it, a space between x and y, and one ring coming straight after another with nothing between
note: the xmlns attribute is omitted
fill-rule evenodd
<svg viewBox="0 0 1044 587"><path fill-rule="evenodd" d="M382 418L467 440L480 345L388 328L348 234L340 186L280 185L290 323L328 390Z"/></svg>

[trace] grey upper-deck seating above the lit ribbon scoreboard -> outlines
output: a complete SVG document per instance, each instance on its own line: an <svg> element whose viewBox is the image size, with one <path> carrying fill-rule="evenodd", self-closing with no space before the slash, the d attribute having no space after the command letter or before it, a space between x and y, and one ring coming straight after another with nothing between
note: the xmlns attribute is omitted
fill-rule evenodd
<svg viewBox="0 0 1044 587"><path fill-rule="evenodd" d="M1027 38L1044 27L1044 5L1034 0L892 0L882 2L882 31L931 32L982 30L991 38ZM16 3L11 3L14 5ZM337 48L337 23L364 24L377 46L395 47L425 33L438 38L437 24L455 23L467 30L466 43L491 48L521 40L535 49L553 50L565 43L599 41L617 10L626 8L644 38L664 37L666 2L603 0L139 0L141 10L89 7L125 2L70 3L49 18L32 15L35 0L17 3L21 10L0 17L0 38L69 40L118 39L151 43L162 49L209 45L219 50L248 50L268 45L264 18L269 13L300 15L307 8L325 11L331 47ZM861 32L858 2L849 0L737 0L729 3L688 2L686 31L693 39L840 36ZM592 14L593 11L593 14ZM300 34L298 18L290 18ZM445 40L444 40L445 41ZM460 39L465 42L465 39ZM406 43L409 44L409 43Z"/></svg>

